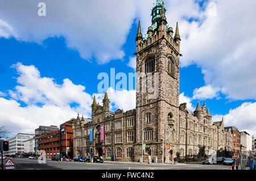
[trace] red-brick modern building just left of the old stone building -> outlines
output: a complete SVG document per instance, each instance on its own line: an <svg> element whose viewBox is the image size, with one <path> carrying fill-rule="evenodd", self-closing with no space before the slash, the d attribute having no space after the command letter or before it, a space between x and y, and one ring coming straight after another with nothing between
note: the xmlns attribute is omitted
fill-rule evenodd
<svg viewBox="0 0 256 181"><path fill-rule="evenodd" d="M67 135L66 135L67 133ZM39 136L39 150L46 151L46 158L73 157L72 120L60 125L57 131L43 133ZM68 155L66 155L66 150Z"/></svg>

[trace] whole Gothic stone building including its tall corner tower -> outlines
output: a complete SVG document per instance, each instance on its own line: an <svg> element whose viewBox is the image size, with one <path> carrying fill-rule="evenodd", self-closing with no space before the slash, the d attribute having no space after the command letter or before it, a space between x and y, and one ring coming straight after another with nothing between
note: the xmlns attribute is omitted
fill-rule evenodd
<svg viewBox="0 0 256 181"><path fill-rule="evenodd" d="M142 77L147 76L147 85L155 85L158 78L158 96L152 98L150 91L137 91L136 109L123 112L109 111L109 99L105 93L103 106L92 103L92 119L77 116L73 122L74 156L85 157L89 149L106 160L113 158L139 162L142 158L142 138L146 144L143 161L152 158L158 162L196 160L212 155L217 150L232 149L232 134L225 131L223 119L213 123L209 109L200 102L193 112L187 104L179 105L180 85L180 35L178 23L175 34L167 26L166 9L162 0L157 0L152 9L152 24L143 37L138 25L137 42L137 90L142 90ZM158 74L156 74L158 73ZM152 79L148 79L151 75ZM156 88L156 87L154 87ZM143 115L143 131L142 131ZM100 139L104 126L104 140ZM89 141L89 129L93 128L93 142ZM142 136L143 135L143 136ZM167 150L170 146L170 150ZM122 151L124 155L122 157Z"/></svg>

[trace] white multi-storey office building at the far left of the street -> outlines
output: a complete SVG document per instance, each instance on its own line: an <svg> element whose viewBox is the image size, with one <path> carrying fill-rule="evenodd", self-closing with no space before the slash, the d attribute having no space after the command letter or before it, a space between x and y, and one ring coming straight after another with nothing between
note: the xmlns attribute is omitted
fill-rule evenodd
<svg viewBox="0 0 256 181"><path fill-rule="evenodd" d="M9 141L9 151L4 151L4 155L10 157L22 157L24 153L24 141L31 140L35 134L18 133L15 136L6 138Z"/></svg>

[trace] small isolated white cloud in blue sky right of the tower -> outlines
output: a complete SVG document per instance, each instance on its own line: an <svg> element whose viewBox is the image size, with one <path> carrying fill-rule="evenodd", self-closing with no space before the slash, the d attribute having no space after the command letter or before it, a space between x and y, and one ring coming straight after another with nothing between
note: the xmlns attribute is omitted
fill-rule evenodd
<svg viewBox="0 0 256 181"><path fill-rule="evenodd" d="M212 87L210 85L203 86L193 91L193 99L205 100L205 99L218 98L219 91L220 89L218 87Z"/></svg>

